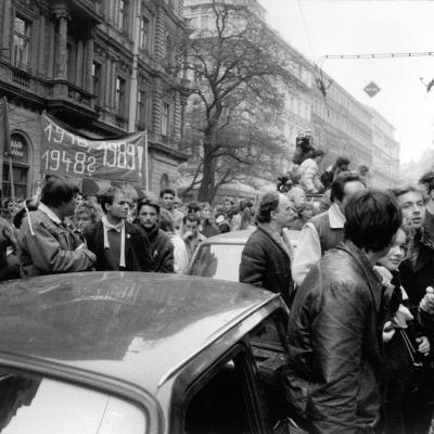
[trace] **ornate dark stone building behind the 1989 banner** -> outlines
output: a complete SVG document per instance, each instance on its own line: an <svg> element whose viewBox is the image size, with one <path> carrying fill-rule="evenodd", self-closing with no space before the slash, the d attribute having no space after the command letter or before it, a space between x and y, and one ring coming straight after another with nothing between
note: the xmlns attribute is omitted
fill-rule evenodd
<svg viewBox="0 0 434 434"><path fill-rule="evenodd" d="M40 115L93 138L148 130L150 190L186 159L180 78L170 64L186 31L182 0L2 0L0 97L10 104L16 195L40 179ZM9 166L0 155L3 195Z"/></svg>

